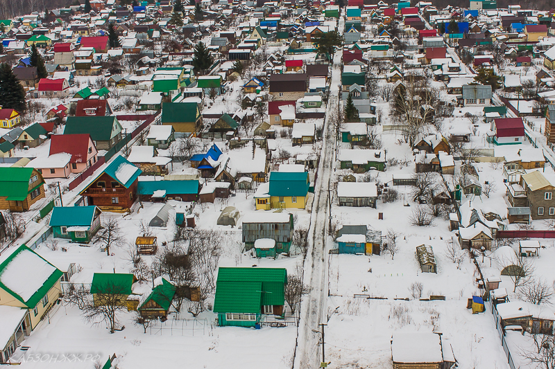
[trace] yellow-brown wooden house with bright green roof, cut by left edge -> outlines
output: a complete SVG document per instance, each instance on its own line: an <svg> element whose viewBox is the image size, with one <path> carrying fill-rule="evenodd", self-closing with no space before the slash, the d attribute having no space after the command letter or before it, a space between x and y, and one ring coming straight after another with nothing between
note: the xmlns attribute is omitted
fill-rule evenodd
<svg viewBox="0 0 555 369"><path fill-rule="evenodd" d="M0 210L27 211L44 197L44 179L37 170L0 168Z"/></svg>

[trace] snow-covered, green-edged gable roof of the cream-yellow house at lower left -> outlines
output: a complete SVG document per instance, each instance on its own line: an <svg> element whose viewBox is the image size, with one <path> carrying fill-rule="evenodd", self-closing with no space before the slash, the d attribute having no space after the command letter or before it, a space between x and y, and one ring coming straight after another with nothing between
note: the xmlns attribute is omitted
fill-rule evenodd
<svg viewBox="0 0 555 369"><path fill-rule="evenodd" d="M24 260L25 262L24 264L36 266L38 262L38 264L48 264L50 267L53 268L52 273L50 274L50 276L46 278L46 280L36 282L36 284L40 282L43 282L43 283L42 285L40 285L37 291L35 291L35 293L31 295L31 297L28 298L26 301L21 296L19 296L15 291L12 291L8 287L6 287L6 285L4 285L4 283L2 282L2 276L6 272L6 267L8 267L8 264L14 261L18 256L21 256L23 258L22 260ZM21 274L20 282L22 283L26 283L25 282L26 278L33 278L33 273L40 273L40 271L31 271L31 270L24 270L24 269L18 269L18 272ZM11 275L9 276L9 278L10 280L12 280L12 278L14 278L14 275L13 275L14 272L10 271L10 274ZM48 293L48 291L52 288L52 286L56 285L56 282L58 282L58 280L62 278L62 275L63 275L62 271L54 267L52 264L50 264L48 261L42 258L42 256L35 253L35 251L29 249L27 246L23 244L22 246L19 246L19 249L14 251L10 256L8 256L8 258L6 258L6 260L4 260L0 264L0 287L6 292L8 292L8 294L17 298L17 300L23 303L26 307L28 307L29 309L33 309L33 307L37 306L37 303L39 303L39 301L42 300L44 295ZM35 274L34 276L36 277L37 274ZM7 281L5 280L5 282ZM33 284L35 284L35 282L33 282Z"/></svg>

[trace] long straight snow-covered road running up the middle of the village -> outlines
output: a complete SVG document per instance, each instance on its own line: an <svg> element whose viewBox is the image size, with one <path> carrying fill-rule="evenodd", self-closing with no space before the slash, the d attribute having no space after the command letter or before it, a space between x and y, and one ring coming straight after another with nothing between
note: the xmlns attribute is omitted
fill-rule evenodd
<svg viewBox="0 0 555 369"><path fill-rule="evenodd" d="M343 34L345 21L339 19L339 33ZM328 98L323 129L323 146L318 166L318 179L314 188L314 203L310 218L309 249L305 259L305 274L303 280L311 288L300 309L300 323L298 329L298 348L293 362L293 368L318 368L322 359L321 345L318 345L320 334L313 330L320 330L320 323L327 323L325 315L325 300L327 298L327 227L330 217L330 190L334 150L335 131L334 120L338 118L339 89L341 84L340 48L334 55L332 65L332 80L330 81L330 97Z"/></svg>

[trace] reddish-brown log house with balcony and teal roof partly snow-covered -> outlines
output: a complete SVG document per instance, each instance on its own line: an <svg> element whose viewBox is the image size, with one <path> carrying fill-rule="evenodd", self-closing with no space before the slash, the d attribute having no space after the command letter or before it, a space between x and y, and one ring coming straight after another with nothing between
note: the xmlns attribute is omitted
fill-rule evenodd
<svg viewBox="0 0 555 369"><path fill-rule="evenodd" d="M79 192L87 197L89 205L101 210L128 210L137 199L137 178L141 170L123 158L116 156L110 164Z"/></svg>

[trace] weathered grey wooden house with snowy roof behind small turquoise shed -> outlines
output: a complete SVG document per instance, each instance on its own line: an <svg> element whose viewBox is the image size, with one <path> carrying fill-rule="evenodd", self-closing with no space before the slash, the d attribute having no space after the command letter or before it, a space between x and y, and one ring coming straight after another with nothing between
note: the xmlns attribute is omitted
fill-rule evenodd
<svg viewBox="0 0 555 369"><path fill-rule="evenodd" d="M257 210L242 219L242 241L250 250L261 238L275 242L274 253L289 253L293 241L293 215L285 212Z"/></svg>

